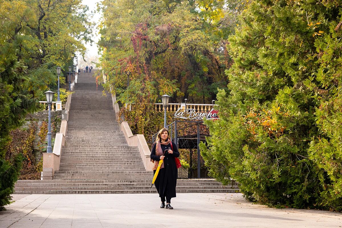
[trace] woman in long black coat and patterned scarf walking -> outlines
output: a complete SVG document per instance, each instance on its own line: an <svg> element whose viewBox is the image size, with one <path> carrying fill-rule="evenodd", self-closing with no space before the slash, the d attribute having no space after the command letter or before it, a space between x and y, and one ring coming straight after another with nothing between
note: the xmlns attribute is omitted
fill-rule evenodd
<svg viewBox="0 0 342 228"><path fill-rule="evenodd" d="M169 131L166 128L158 132L156 142L152 146L151 161L154 162L153 174L155 174L159 161L161 164L157 179L154 182L161 199L160 208L173 209L171 206L171 198L176 197L176 184L178 170L176 167L175 157L179 157L176 144L171 142ZM165 206L166 200L166 206Z"/></svg>

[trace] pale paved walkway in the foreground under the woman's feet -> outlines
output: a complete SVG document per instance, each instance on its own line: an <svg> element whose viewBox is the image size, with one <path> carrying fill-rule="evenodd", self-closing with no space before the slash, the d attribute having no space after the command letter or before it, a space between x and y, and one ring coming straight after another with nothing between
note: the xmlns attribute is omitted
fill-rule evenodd
<svg viewBox="0 0 342 228"><path fill-rule="evenodd" d="M239 193L178 193L174 210L157 194L13 195L0 227L342 227L342 214L273 209Z"/></svg>

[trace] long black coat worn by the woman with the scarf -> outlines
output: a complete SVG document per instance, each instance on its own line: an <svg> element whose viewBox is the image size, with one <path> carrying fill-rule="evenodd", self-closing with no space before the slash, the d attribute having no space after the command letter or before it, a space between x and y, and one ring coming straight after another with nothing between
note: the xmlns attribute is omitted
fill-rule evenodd
<svg viewBox="0 0 342 228"><path fill-rule="evenodd" d="M178 170L176 167L176 162L174 161L175 157L179 157L179 152L175 143L171 142L173 146L173 153L165 153L164 158L164 168L159 170L157 179L154 182L156 189L159 193L159 197L176 197L176 184L177 184L177 176ZM150 158L155 161L160 161L160 156L156 155L156 145L154 144L151 150ZM171 145L160 145L162 151L166 149L171 149ZM153 174L156 171L153 171ZM167 190L167 191L166 191Z"/></svg>

